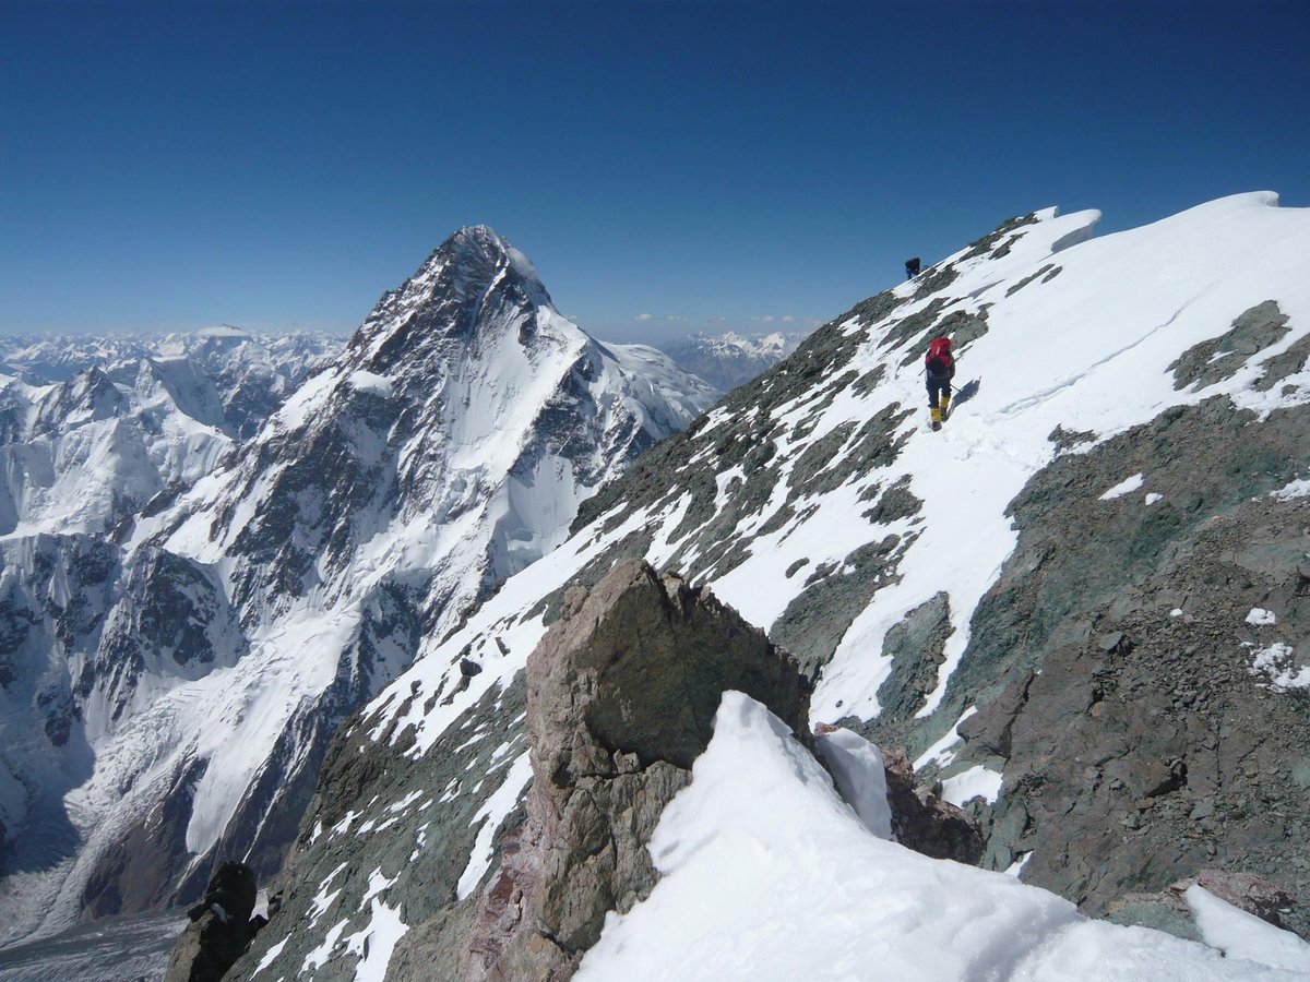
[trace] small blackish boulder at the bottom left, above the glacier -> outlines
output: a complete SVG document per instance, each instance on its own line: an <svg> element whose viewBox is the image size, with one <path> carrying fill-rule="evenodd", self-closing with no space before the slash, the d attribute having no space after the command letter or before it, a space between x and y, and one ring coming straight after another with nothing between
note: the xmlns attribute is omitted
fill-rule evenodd
<svg viewBox="0 0 1310 982"><path fill-rule="evenodd" d="M210 880L191 919L173 948L164 982L219 982L245 952L258 928L252 926L254 873L245 863L224 863Z"/></svg>

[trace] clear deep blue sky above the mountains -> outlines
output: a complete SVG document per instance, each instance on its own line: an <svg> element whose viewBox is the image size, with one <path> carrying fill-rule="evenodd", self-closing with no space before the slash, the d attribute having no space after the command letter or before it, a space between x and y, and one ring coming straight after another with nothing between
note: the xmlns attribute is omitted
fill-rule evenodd
<svg viewBox="0 0 1310 982"><path fill-rule="evenodd" d="M345 331L474 223L603 338L812 323L1034 208L1310 206L1307 50L1298 0L8 0L0 331Z"/></svg>

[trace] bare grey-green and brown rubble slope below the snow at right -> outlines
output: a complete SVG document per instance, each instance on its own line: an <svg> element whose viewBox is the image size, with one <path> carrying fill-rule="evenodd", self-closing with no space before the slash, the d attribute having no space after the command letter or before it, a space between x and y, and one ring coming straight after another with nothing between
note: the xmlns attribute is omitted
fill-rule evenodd
<svg viewBox="0 0 1310 982"><path fill-rule="evenodd" d="M1201 869L1310 890L1307 697L1252 668L1275 643L1310 660L1310 500L1269 496L1301 473L1307 410L1254 419L1216 398L1056 457L1011 504L1019 542L942 707L863 728L913 755L977 707L951 766L1003 767L984 865L1031 854L1022 879L1091 915ZM1099 500L1138 471L1141 494ZM1301 907L1285 923L1310 932Z"/></svg>

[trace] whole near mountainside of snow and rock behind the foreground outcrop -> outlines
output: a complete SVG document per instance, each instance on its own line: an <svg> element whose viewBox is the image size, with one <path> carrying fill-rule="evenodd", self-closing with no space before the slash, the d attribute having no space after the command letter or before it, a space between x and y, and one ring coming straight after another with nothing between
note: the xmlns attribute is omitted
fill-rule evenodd
<svg viewBox="0 0 1310 982"><path fill-rule="evenodd" d="M424 945L481 923L545 791L529 653L631 559L789 651L815 723L904 748L892 771L960 809L985 869L1178 932L1179 882L1260 882L1305 935L1310 212L1098 220L1005 223L588 499L338 733L246 970L465 977ZM941 334L959 389L930 432Z"/></svg>

